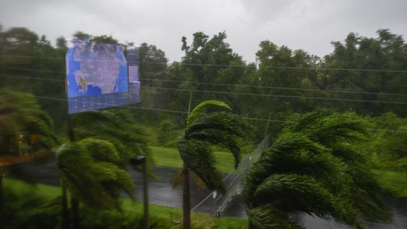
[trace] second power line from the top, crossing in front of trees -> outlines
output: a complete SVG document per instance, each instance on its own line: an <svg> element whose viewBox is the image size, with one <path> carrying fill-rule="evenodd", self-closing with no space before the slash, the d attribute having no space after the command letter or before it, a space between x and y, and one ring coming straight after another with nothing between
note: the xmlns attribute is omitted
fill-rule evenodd
<svg viewBox="0 0 407 229"><path fill-rule="evenodd" d="M32 69L32 68L15 68L15 67L0 67L0 68L11 69L11 70L40 71L40 72L66 74L66 72L52 71L52 70L42 70L42 69ZM407 96L407 94L395 94L395 93L346 91L346 90L320 90L320 89L309 89L309 88L272 87L272 86L257 86L257 85L245 85L245 84L226 84L226 83L205 83L205 82L194 82L194 81L148 79L148 78L140 78L140 79L141 80L163 81L163 82L180 82L180 83L193 83L193 84L206 84L206 85L240 86L240 87L254 87L254 88L267 88L267 89L286 89L286 90L304 90L304 91L334 92L334 93L338 92L338 93L355 93L355 94L376 94L376 95Z"/></svg>

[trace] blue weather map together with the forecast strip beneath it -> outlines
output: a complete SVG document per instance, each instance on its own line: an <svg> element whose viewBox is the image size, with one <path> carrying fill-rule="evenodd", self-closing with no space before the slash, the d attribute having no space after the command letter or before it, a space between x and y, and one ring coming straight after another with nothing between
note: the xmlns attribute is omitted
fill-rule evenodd
<svg viewBox="0 0 407 229"><path fill-rule="evenodd" d="M66 52L66 90L69 113L129 104L123 49L113 44L74 41Z"/></svg>

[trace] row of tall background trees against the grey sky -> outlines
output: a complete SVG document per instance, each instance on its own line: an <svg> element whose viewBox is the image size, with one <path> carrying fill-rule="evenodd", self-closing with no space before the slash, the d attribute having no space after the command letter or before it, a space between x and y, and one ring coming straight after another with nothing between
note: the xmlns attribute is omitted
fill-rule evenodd
<svg viewBox="0 0 407 229"><path fill-rule="evenodd" d="M140 45L140 75L145 87L141 106L186 111L188 90L192 90L192 105L221 99L237 113L258 119L270 116L272 120L285 120L292 112L310 112L318 107L373 116L392 111L405 117L404 104L375 101L405 102L407 44L400 35L386 29L378 30L377 35L367 38L350 33L344 42L332 42L333 52L323 58L262 41L256 63L246 63L235 53L226 42L225 32L213 37L197 32L190 43L183 37L180 48L185 54L181 61L172 63L168 63L165 53L155 45L143 43ZM73 37L118 43L111 36L91 36L83 32ZM45 36L39 38L25 28L12 28L0 32L0 45L2 86L12 85L35 95L65 97L61 82L65 78L67 43L63 38L58 38L57 47L53 47ZM123 44L125 48L133 45ZM337 98L372 102L335 100ZM47 98L39 101L55 120L56 127L65 125L65 103ZM139 119L155 124L159 117L170 118L179 128L185 122L184 116L149 111ZM263 123L253 125L261 127ZM279 130L280 126L274 125L268 131L276 136ZM258 139L263 134L264 129L256 128L254 137Z"/></svg>

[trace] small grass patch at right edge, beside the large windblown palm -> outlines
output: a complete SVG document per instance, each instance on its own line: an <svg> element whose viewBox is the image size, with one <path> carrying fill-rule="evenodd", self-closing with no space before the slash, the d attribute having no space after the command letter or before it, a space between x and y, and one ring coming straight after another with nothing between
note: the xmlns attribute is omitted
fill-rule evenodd
<svg viewBox="0 0 407 229"><path fill-rule="evenodd" d="M399 196L407 197L407 173L387 170L374 170L374 172L385 187L396 191Z"/></svg>

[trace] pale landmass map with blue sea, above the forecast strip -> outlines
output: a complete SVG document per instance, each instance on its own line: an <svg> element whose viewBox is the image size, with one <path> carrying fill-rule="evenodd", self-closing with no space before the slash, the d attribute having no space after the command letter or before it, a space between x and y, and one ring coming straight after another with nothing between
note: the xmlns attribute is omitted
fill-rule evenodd
<svg viewBox="0 0 407 229"><path fill-rule="evenodd" d="M119 45L78 41L66 53L68 97L128 91L127 61Z"/></svg>

